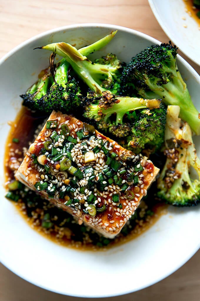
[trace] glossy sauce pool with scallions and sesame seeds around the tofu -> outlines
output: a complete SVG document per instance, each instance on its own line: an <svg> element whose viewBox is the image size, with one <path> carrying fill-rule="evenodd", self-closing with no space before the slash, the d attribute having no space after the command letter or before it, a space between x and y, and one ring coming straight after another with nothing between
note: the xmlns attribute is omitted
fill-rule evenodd
<svg viewBox="0 0 200 301"><path fill-rule="evenodd" d="M28 148L34 140L34 131L43 119L44 116L40 118L34 116L23 107L12 123L5 150L6 183L13 181L13 170L19 166L26 153L26 148L23 149L23 147ZM104 250L107 247L125 243L144 233L162 214L166 213L165 204L156 204L149 197L145 202L141 202L141 206L121 233L115 239L107 239L85 227L84 224L78 223L71 215L34 192L28 191L27 188L17 193L20 197L14 204L32 228L59 244L82 250Z"/></svg>

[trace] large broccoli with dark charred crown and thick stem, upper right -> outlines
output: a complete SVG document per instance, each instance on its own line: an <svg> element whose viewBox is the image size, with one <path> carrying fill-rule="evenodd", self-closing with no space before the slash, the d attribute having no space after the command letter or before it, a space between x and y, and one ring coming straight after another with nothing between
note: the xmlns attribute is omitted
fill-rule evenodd
<svg viewBox="0 0 200 301"><path fill-rule="evenodd" d="M142 97L152 98L153 91L153 97L158 95L166 105L180 106L180 118L199 135L200 115L178 70L177 50L171 42L147 47L124 68L121 82L124 92L137 90Z"/></svg>

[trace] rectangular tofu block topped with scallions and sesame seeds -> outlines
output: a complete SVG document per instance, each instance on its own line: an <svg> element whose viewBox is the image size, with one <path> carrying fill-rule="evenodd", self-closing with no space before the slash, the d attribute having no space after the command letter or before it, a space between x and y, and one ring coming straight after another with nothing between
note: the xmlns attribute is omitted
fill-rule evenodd
<svg viewBox="0 0 200 301"><path fill-rule="evenodd" d="M159 169L86 123L53 111L16 178L105 237L134 214Z"/></svg>

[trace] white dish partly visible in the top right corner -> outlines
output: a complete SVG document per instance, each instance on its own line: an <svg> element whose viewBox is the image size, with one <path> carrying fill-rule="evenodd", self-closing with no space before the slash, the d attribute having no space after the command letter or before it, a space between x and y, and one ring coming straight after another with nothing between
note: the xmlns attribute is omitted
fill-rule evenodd
<svg viewBox="0 0 200 301"><path fill-rule="evenodd" d="M148 0L158 23L177 47L200 65L200 30L198 23L185 12L183 0ZM182 18L186 17L186 20ZM187 28L184 27L187 25ZM163 41L165 42L165 41Z"/></svg>

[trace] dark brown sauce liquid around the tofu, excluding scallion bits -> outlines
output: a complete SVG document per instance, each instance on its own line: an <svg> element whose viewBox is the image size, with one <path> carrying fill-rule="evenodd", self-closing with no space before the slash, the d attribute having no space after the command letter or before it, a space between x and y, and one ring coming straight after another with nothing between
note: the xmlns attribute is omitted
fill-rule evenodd
<svg viewBox="0 0 200 301"><path fill-rule="evenodd" d="M35 116L31 113L31 111L27 110L25 107L22 107L20 112L18 113L15 121L11 124L11 129L7 138L6 148L5 148L5 178L6 183L11 182L14 179L13 170L10 168L10 161L14 157L16 160L19 160L23 157L23 147L28 147L28 142L34 140L34 131L37 126L43 122L43 117ZM19 142L14 143L13 138L18 138ZM20 162L19 162L20 163ZM34 197L34 193L33 197ZM77 225L71 216L64 211L56 208L46 200L40 199L40 203L31 211L30 202L27 206L26 196L21 198L18 202L14 203L16 205L16 209L21 214L21 216L28 222L28 224L42 234L44 237L51 239L52 241L61 244L63 246L78 248L79 250L105 250L109 247L124 244L136 237L140 234L144 233L148 230L152 225L157 222L157 220L166 213L166 205L163 203L155 204L152 200L152 205L146 206L143 202L143 208L141 209L143 218L135 219L132 224L127 226L127 228L123 228L122 233L120 233L115 239L109 240L108 245L101 245L102 243L98 241L98 234L92 233L89 230L87 233L83 231L85 235L85 240L82 241L81 236L81 227L84 228L83 225ZM150 202L151 204L151 202ZM30 206L29 206L30 205ZM29 208L30 207L30 208ZM44 211L43 208L47 207L47 211ZM146 208L146 209L145 209ZM45 209L46 210L46 209ZM147 214L145 213L145 210ZM148 215L148 211L151 212ZM53 228L44 228L41 226L43 214L50 212L52 216L52 222L55 220L55 224ZM141 212L139 213L141 215ZM56 224L56 218L58 220L62 217L63 214L66 214L67 219L70 219L70 222L66 223L61 220L59 224ZM65 218L63 219L65 220ZM77 228L79 227L79 228ZM77 233L76 233L77 231ZM86 233L86 234L85 234ZM87 239L87 237L89 237Z"/></svg>

